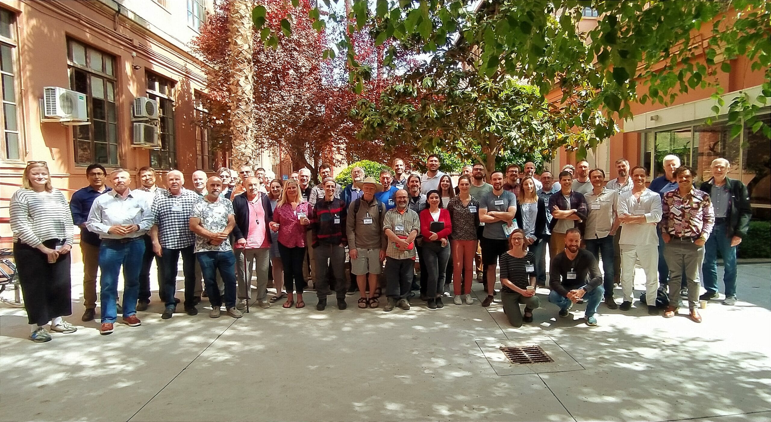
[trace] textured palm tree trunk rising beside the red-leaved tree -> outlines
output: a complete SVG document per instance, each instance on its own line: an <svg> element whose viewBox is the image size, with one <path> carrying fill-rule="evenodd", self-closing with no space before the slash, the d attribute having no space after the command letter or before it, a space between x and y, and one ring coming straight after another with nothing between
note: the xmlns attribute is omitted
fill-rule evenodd
<svg viewBox="0 0 771 422"><path fill-rule="evenodd" d="M257 159L257 145L254 141L254 23L251 22L251 0L231 0L231 136L232 164L238 168L243 164L254 164Z"/></svg>

